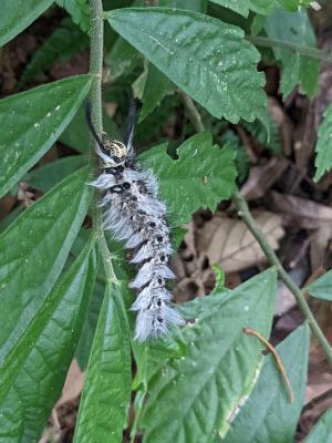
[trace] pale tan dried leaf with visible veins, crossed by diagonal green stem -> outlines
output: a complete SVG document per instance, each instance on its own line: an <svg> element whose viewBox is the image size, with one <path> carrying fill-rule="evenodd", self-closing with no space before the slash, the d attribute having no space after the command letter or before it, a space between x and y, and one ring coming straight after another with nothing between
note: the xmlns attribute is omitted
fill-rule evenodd
<svg viewBox="0 0 332 443"><path fill-rule="evenodd" d="M270 246L278 249L283 236L281 218L268 212L253 213ZM208 257L210 264L219 264L225 272L235 272L266 261L259 244L241 220L225 215L214 217L201 229L197 239L198 250Z"/></svg>

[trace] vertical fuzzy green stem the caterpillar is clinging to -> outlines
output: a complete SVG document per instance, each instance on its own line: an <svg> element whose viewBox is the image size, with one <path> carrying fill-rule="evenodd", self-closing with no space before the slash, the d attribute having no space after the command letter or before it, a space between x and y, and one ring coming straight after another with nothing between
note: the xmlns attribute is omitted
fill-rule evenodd
<svg viewBox="0 0 332 443"><path fill-rule="evenodd" d="M104 21L102 0L90 0L91 8L91 52L90 52L90 74L92 84L90 90L91 119L98 134L103 130L102 113L102 73L103 73L103 45L104 45ZM97 158L95 155L95 141L91 137L90 161L93 169L97 168ZM93 204L93 229L97 236L98 246L102 254L102 260L105 269L107 282L116 284L116 278L112 267L112 258L104 236L101 223L101 214Z"/></svg>

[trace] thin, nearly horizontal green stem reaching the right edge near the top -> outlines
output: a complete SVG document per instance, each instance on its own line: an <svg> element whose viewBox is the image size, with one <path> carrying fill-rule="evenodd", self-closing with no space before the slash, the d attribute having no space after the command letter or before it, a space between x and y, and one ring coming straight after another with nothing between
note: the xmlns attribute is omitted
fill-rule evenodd
<svg viewBox="0 0 332 443"><path fill-rule="evenodd" d="M297 44L284 40L269 39L268 37L260 35L247 35L246 39L258 47L283 48L293 52L299 52L302 55L311 56L312 59L332 60L331 52L322 51L318 48L304 47L302 44Z"/></svg>

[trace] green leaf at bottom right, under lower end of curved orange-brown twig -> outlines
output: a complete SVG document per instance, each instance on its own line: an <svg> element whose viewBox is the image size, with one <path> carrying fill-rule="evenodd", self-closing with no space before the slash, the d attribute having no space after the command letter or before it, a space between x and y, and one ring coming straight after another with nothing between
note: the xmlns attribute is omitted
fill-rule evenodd
<svg viewBox="0 0 332 443"><path fill-rule="evenodd" d="M230 430L222 443L294 441L305 393L309 338L309 326L304 324L277 347L292 387L294 401L289 402L276 360L269 354L252 394L230 424ZM255 340L253 337L252 339Z"/></svg>

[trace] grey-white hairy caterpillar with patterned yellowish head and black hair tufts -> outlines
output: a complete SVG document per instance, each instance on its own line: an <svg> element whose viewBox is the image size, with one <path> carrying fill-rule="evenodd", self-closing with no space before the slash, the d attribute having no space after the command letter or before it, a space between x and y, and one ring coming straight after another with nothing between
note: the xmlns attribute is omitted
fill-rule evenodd
<svg viewBox="0 0 332 443"><path fill-rule="evenodd" d="M149 171L143 171L135 159L133 137L136 106L132 102L125 142L103 142L91 120L89 104L86 121L96 141L101 159L100 176L92 183L100 189L103 228L125 247L133 250L131 262L137 274L129 284L139 292L132 310L137 311L135 339L145 341L165 334L172 324L183 323L173 308L166 280L175 276L168 267L172 246L166 222L166 206L157 197L158 186Z"/></svg>

